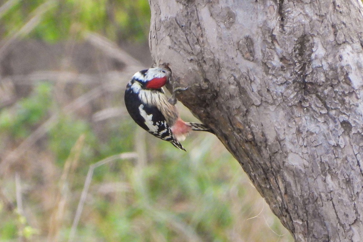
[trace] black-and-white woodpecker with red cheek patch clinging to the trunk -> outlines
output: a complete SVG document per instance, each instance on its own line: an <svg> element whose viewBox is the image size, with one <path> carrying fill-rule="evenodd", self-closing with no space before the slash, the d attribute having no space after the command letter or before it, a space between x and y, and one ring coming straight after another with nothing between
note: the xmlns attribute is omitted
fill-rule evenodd
<svg viewBox="0 0 363 242"><path fill-rule="evenodd" d="M175 107L176 88L172 97L167 99L163 86L169 81L169 68L151 67L138 71L126 86L125 105L134 121L150 134L169 141L176 148L184 150L180 141L192 131L213 131L201 123L189 123L181 120Z"/></svg>

